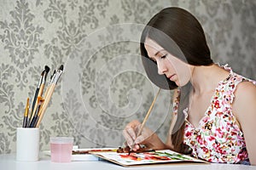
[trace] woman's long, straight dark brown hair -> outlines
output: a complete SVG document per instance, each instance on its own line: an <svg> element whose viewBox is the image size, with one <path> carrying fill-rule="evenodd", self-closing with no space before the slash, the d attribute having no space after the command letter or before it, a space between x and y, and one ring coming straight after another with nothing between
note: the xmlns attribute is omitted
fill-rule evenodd
<svg viewBox="0 0 256 170"><path fill-rule="evenodd" d="M164 8L149 20L143 30L140 42L144 69L148 78L160 88L174 89L177 88L177 85L166 78L165 75L158 74L157 65L148 58L148 53L144 46L146 37L154 40L170 54L189 65L212 65L213 63L205 33L195 16L183 8ZM183 144L183 110L189 104L190 87L190 83L181 87L180 102L177 110L178 119L174 127L176 130L172 133L174 150L182 153L186 152L187 149Z"/></svg>

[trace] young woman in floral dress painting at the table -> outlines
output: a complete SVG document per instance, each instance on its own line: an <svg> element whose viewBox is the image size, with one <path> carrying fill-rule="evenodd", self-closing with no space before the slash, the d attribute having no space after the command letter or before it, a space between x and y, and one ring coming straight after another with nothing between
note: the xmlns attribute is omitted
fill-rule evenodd
<svg viewBox="0 0 256 170"><path fill-rule="evenodd" d="M182 8L155 14L141 37L143 66L160 88L174 89L167 142L141 122L124 130L132 150L144 144L211 162L256 165L256 82L214 64L204 31Z"/></svg>

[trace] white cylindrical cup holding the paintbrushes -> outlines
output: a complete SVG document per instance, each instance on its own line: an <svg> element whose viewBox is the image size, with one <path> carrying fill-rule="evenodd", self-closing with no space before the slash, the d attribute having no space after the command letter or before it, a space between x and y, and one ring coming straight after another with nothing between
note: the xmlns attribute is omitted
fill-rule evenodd
<svg viewBox="0 0 256 170"><path fill-rule="evenodd" d="M17 128L16 160L38 161L39 129L30 127Z"/></svg>

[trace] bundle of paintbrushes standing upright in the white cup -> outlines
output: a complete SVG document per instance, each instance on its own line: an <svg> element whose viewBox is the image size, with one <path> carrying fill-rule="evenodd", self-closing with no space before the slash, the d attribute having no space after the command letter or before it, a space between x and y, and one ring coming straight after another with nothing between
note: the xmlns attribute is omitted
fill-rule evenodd
<svg viewBox="0 0 256 170"><path fill-rule="evenodd" d="M40 122L44 116L44 112L47 109L49 100L54 93L55 86L61 77L63 72L63 65L59 69L55 70L49 80L49 85L44 92L44 85L49 72L49 66L45 65L44 71L42 71L38 86L32 102L32 108L29 110L29 98L26 100L26 109L24 113L22 127L39 127Z"/></svg>

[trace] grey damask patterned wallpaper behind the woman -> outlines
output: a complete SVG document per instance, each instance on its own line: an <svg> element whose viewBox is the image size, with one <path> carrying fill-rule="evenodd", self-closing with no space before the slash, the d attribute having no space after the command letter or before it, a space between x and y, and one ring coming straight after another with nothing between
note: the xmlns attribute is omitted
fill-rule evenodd
<svg viewBox="0 0 256 170"><path fill-rule="evenodd" d="M0 153L15 152L16 127L44 65L64 73L40 125L80 147L119 146L157 88L145 76L138 42L161 8L189 9L201 21L212 59L256 79L256 3L251 0L0 0ZM48 80L49 81L49 80ZM166 138L172 93L161 91L147 126Z"/></svg>

